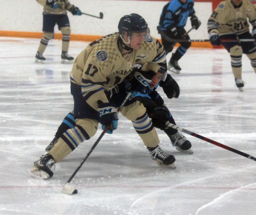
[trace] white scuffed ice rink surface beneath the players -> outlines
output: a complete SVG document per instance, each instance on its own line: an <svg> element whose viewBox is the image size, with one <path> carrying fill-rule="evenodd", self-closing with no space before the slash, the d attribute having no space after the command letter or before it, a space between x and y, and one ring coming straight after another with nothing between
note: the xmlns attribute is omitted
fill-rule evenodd
<svg viewBox="0 0 256 215"><path fill-rule="evenodd" d="M39 39L0 37L0 214L199 214L253 215L256 162L184 134L194 154L182 154L157 130L160 146L177 169L158 166L132 123L105 134L71 181L76 195L61 192L101 133L56 164L53 178L38 180L27 170L72 110L69 73L61 64L61 41L49 42L45 64L34 63ZM87 45L71 41L76 57ZM170 58L170 54L167 59ZM256 156L256 75L243 55L244 91L235 86L224 49L188 50L172 74L181 93L167 99L178 126Z"/></svg>

